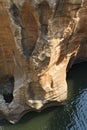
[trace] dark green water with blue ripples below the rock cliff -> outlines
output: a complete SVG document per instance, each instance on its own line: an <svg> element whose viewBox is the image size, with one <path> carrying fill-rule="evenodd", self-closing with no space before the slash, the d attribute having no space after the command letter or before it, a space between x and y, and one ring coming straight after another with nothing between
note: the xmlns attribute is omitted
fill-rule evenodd
<svg viewBox="0 0 87 130"><path fill-rule="evenodd" d="M66 106L31 112L16 125L3 120L0 130L87 130L87 63L75 65L68 73L67 82Z"/></svg>

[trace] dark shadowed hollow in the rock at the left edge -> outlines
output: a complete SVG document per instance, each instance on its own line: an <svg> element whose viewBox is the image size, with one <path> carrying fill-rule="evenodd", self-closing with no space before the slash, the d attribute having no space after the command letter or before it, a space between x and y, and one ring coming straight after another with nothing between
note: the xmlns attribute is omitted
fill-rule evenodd
<svg viewBox="0 0 87 130"><path fill-rule="evenodd" d="M11 103L13 100L13 90L14 90L14 77L5 76L0 79L0 95L6 103Z"/></svg>

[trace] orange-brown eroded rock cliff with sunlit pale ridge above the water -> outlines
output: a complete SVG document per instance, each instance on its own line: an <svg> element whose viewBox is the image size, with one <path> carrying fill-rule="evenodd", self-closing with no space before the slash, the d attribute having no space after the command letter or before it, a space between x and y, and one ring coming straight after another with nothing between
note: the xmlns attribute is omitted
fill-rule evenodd
<svg viewBox="0 0 87 130"><path fill-rule="evenodd" d="M0 0L0 82L14 82L0 112L11 123L67 100L66 71L87 60L86 25L87 0Z"/></svg>

